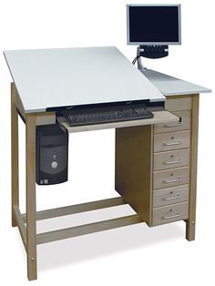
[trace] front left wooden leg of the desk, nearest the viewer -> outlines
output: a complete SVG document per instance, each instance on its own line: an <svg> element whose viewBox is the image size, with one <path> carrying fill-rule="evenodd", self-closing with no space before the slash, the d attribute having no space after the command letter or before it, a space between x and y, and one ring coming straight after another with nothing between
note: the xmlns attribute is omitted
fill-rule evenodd
<svg viewBox="0 0 215 286"><path fill-rule="evenodd" d="M36 116L26 116L27 277L36 280Z"/></svg>

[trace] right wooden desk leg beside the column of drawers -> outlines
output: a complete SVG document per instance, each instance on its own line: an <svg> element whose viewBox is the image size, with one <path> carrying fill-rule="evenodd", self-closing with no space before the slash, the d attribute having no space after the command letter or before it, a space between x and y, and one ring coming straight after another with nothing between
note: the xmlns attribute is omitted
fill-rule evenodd
<svg viewBox="0 0 215 286"><path fill-rule="evenodd" d="M196 192L197 192L197 158L198 158L198 126L199 95L192 96L190 126L190 173L189 173L189 219L186 220L186 239L195 240L196 227Z"/></svg>

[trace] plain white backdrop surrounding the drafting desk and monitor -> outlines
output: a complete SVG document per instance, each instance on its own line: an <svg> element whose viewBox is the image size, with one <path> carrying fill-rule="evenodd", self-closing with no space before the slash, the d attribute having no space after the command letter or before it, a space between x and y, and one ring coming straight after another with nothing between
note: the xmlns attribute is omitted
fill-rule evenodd
<svg viewBox="0 0 215 286"><path fill-rule="evenodd" d="M182 46L145 66L214 89L214 1L181 1ZM136 1L129 1L136 3ZM142 1L141 3L154 3ZM156 3L162 3L157 0ZM165 0L165 3L172 3ZM26 253L10 216L10 81L5 49L118 46L130 60L126 1L0 0L0 283L27 285ZM87 66L86 66L87 68ZM84 84L84 83L83 83ZM214 284L214 107L200 97L196 240L185 240L185 223L149 229L145 224L108 230L37 247L38 285ZM69 181L37 188L37 209L116 196L114 130L70 136ZM25 129L20 124L20 200L25 211ZM37 231L107 220L132 213L127 207L38 223Z"/></svg>

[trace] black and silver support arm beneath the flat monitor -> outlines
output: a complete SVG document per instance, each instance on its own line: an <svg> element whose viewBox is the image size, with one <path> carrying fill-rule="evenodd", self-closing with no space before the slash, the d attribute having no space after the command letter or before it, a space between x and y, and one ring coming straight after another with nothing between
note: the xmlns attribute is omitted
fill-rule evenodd
<svg viewBox="0 0 215 286"><path fill-rule="evenodd" d="M169 55L169 46L138 46L137 50L137 59L138 59L138 69L139 70L147 70L146 67L143 66L141 61L141 56L148 58L161 58Z"/></svg>

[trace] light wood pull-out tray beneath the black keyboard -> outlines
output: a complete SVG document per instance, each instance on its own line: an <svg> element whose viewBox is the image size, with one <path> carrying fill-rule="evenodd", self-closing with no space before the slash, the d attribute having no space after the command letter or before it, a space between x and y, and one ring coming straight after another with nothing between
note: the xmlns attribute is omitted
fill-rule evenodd
<svg viewBox="0 0 215 286"><path fill-rule="evenodd" d="M64 129L65 131L67 131L68 133L108 129L108 128L128 128L132 126L149 125L149 124L157 124L157 123L179 122L179 117L175 116L174 114L172 114L171 112L167 110L153 111L152 113L154 114L153 118L119 121L119 122L108 122L108 123L76 126L76 127L69 126L65 117L56 117L56 120L58 124L60 125L60 127Z"/></svg>

